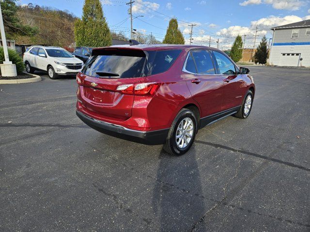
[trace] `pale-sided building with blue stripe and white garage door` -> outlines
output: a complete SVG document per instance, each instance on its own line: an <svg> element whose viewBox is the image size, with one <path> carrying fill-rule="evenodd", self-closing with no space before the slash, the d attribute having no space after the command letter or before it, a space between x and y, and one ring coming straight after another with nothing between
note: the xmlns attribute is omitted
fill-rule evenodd
<svg viewBox="0 0 310 232"><path fill-rule="evenodd" d="M310 67L310 20L272 28L269 64Z"/></svg>

